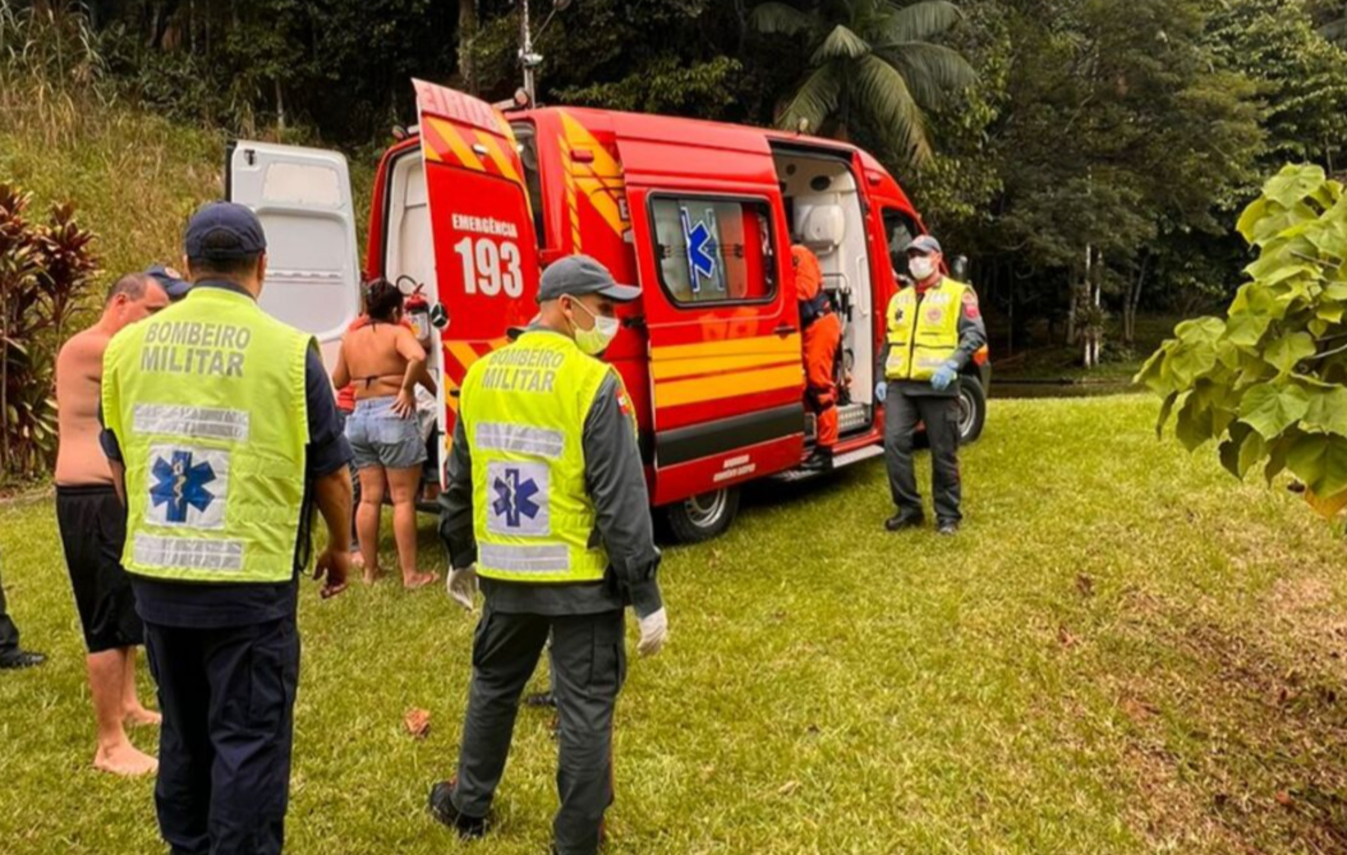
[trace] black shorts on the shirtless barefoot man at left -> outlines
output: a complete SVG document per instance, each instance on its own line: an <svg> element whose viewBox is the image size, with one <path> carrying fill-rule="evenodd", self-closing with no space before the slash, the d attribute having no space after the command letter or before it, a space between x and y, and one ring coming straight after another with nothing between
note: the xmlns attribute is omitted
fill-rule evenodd
<svg viewBox="0 0 1347 855"><path fill-rule="evenodd" d="M121 568L127 509L110 485L57 485L57 524L90 653L145 642L131 579Z"/></svg>

